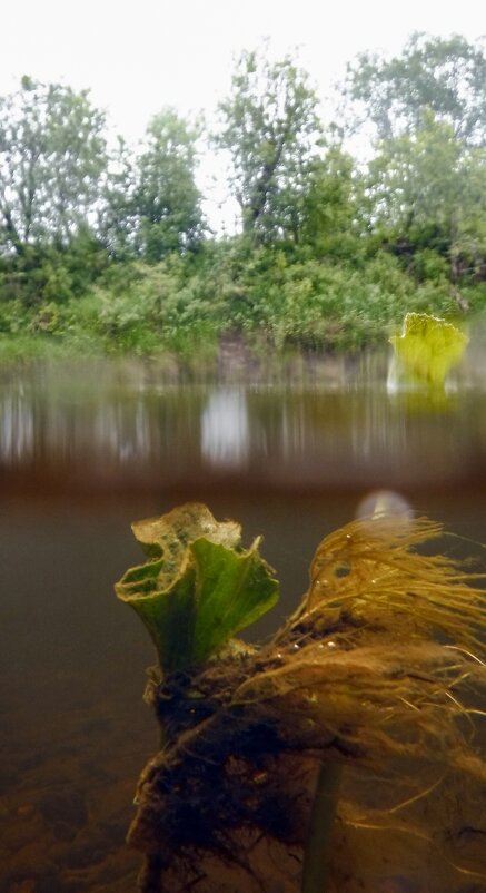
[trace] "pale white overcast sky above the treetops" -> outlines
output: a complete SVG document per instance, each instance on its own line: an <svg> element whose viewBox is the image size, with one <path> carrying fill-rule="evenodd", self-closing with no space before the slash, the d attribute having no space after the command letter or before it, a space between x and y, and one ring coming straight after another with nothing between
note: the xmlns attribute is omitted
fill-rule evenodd
<svg viewBox="0 0 486 893"><path fill-rule="evenodd" d="M0 95L22 75L89 88L113 131L141 138L165 106L209 120L227 95L236 56L270 40L296 55L326 98L358 52L399 52L426 31L475 40L478 0L3 0Z"/></svg>

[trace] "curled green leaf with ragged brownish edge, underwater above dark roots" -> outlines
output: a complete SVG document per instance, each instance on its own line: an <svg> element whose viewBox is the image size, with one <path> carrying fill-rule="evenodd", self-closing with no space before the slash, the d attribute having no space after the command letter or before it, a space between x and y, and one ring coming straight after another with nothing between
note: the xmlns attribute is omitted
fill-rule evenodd
<svg viewBox="0 0 486 893"><path fill-rule="evenodd" d="M151 560L115 588L141 617L166 673L202 663L277 601L260 538L244 549L239 524L216 521L206 506L187 503L132 527Z"/></svg>

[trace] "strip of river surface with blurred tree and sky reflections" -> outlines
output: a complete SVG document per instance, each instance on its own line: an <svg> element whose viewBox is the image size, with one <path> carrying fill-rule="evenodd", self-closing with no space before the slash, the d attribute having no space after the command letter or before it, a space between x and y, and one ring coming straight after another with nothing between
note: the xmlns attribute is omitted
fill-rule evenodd
<svg viewBox="0 0 486 893"><path fill-rule="evenodd" d="M72 487L228 473L275 487L396 487L477 475L486 453L485 389L390 394L385 375L359 372L341 387L325 377L178 386L149 372L99 364L4 376L0 468L65 469Z"/></svg>

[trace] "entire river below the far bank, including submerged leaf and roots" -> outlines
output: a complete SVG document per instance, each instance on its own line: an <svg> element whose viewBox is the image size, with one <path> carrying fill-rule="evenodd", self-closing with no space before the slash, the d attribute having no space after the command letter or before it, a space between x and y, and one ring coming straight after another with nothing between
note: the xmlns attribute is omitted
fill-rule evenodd
<svg viewBox="0 0 486 893"><path fill-rule="evenodd" d="M4 369L0 488L0 893L486 893L474 345Z"/></svg>

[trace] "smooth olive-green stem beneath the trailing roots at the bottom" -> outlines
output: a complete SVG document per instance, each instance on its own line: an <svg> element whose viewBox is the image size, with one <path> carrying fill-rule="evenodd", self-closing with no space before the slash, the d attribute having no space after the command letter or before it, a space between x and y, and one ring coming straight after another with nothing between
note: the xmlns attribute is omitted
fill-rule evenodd
<svg viewBox="0 0 486 893"><path fill-rule="evenodd" d="M341 775L341 767L335 763L320 764L304 853L301 893L327 893L329 846Z"/></svg>

